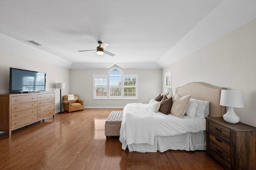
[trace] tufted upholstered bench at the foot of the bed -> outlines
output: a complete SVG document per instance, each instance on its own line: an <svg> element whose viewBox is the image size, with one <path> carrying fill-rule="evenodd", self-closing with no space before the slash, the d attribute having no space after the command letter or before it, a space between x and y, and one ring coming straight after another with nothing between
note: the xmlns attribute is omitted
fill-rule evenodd
<svg viewBox="0 0 256 170"><path fill-rule="evenodd" d="M120 136L123 111L112 111L105 121L105 136Z"/></svg>

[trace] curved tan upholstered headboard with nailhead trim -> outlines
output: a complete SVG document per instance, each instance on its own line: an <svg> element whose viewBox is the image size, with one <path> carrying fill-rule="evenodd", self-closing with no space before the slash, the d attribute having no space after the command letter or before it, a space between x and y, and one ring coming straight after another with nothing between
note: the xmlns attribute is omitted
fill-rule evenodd
<svg viewBox="0 0 256 170"><path fill-rule="evenodd" d="M181 96L191 94L191 98L209 101L209 117L222 117L225 114L225 106L220 106L220 93L222 89L225 88L211 86L201 82L191 82L178 87L178 94Z"/></svg>

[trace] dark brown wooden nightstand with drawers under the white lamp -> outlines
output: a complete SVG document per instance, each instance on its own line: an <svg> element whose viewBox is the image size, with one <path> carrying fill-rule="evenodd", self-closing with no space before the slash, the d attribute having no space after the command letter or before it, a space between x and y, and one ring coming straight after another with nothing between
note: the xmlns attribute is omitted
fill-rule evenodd
<svg viewBox="0 0 256 170"><path fill-rule="evenodd" d="M256 169L256 127L206 117L206 153L224 168Z"/></svg>

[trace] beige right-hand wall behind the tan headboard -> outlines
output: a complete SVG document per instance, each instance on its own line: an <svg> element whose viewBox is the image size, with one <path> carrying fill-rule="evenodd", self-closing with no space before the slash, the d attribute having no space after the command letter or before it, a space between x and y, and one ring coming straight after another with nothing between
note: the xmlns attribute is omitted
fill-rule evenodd
<svg viewBox="0 0 256 170"><path fill-rule="evenodd" d="M172 87L205 82L243 90L244 108L234 108L240 121L256 127L256 20L163 69L172 70ZM228 108L226 108L228 109Z"/></svg>

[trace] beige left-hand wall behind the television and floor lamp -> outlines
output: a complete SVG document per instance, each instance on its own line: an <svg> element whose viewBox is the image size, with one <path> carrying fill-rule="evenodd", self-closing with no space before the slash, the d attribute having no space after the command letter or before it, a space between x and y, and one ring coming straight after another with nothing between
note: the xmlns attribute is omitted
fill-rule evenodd
<svg viewBox="0 0 256 170"><path fill-rule="evenodd" d="M60 90L55 88L56 82L65 82L66 88L62 90L62 94L68 94L70 86L69 69L28 59L6 51L0 51L0 61L0 94L7 94L8 92L10 67L46 72L46 91L55 92L55 111L60 110Z"/></svg>

